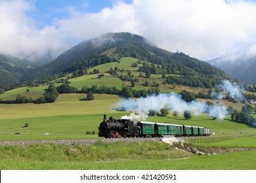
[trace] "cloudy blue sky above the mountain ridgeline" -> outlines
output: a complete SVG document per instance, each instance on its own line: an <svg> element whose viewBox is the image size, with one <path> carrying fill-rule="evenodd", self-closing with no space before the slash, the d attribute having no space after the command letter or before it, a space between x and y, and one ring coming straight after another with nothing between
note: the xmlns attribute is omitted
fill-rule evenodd
<svg viewBox="0 0 256 183"><path fill-rule="evenodd" d="M0 0L0 27L0 54L32 59L121 31L203 60L256 55L255 1Z"/></svg>

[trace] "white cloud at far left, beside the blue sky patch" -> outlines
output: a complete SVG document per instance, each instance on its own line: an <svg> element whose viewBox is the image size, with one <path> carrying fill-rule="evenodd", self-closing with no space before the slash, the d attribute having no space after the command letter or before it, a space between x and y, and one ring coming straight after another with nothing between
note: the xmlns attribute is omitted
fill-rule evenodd
<svg viewBox="0 0 256 183"><path fill-rule="evenodd" d="M27 12L35 10L26 1L0 1L0 53L38 59L45 54L60 54L67 46L54 25L38 29Z"/></svg>

